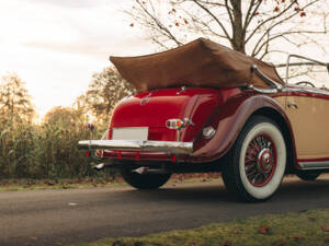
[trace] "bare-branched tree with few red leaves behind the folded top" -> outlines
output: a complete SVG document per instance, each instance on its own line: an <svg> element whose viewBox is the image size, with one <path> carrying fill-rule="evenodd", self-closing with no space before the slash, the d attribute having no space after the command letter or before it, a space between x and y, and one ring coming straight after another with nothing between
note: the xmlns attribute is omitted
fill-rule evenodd
<svg viewBox="0 0 329 246"><path fill-rule="evenodd" d="M126 13L162 48L206 36L264 59L283 51L273 45L277 42L321 46L314 35L326 39L328 10L326 0L136 0Z"/></svg>

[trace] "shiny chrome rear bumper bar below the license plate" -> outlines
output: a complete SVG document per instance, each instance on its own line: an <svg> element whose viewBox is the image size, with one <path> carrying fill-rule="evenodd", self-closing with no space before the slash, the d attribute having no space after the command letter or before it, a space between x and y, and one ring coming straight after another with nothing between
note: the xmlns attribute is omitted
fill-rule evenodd
<svg viewBox="0 0 329 246"><path fill-rule="evenodd" d="M164 152L168 154L192 154L193 142L139 141L139 140L82 140L80 150L118 150Z"/></svg>

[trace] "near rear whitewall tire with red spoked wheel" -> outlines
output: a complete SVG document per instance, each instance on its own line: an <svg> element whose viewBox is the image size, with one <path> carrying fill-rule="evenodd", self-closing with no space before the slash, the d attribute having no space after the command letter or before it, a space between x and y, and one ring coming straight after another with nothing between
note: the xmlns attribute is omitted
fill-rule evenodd
<svg viewBox="0 0 329 246"><path fill-rule="evenodd" d="M223 179L240 200L264 201L280 187L286 167L285 140L274 121L253 116L228 152Z"/></svg>

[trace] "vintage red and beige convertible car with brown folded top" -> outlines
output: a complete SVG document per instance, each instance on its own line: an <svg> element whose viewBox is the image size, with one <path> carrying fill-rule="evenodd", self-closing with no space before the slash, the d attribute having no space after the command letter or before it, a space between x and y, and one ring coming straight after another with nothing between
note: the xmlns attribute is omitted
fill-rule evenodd
<svg viewBox="0 0 329 246"><path fill-rule="evenodd" d="M292 57L304 58L290 56L287 71ZM326 89L287 84L272 65L204 38L110 59L137 94L116 105L101 140L79 141L95 168L118 167L138 189L175 172L219 171L245 201L269 199L287 173L314 180L329 171Z"/></svg>

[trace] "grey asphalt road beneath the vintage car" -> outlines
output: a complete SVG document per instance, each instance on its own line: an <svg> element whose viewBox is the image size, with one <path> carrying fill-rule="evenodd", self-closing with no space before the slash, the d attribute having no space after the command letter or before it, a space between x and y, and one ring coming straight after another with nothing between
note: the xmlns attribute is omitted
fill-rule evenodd
<svg viewBox="0 0 329 246"><path fill-rule="evenodd" d="M236 202L222 180L0 194L0 246L59 245L140 236L265 213L329 208L329 175L306 183L285 178L264 203Z"/></svg>

